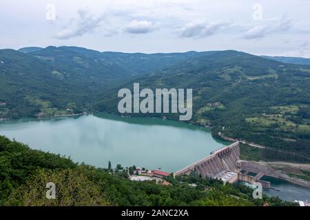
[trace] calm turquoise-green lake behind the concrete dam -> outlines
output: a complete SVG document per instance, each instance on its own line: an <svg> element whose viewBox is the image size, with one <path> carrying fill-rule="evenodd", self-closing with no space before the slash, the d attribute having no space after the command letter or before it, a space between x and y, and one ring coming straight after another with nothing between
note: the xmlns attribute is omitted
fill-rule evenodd
<svg viewBox="0 0 310 220"><path fill-rule="evenodd" d="M6 135L31 148L97 167L140 166L175 172L228 144L208 129L160 118L121 118L100 113L78 118L23 119L0 123Z"/></svg>

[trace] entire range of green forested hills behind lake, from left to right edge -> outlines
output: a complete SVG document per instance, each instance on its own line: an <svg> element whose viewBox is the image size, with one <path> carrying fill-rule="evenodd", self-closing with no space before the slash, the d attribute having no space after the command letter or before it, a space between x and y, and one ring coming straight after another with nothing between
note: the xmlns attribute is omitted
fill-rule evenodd
<svg viewBox="0 0 310 220"><path fill-rule="evenodd" d="M220 132L267 146L271 153L266 155L275 159L281 152L283 160L309 162L310 66L291 64L298 59L275 60L236 51L0 50L0 120L85 111L118 113L118 90L132 89L133 83L140 83L141 89L192 88L190 123L211 126L214 137Z"/></svg>

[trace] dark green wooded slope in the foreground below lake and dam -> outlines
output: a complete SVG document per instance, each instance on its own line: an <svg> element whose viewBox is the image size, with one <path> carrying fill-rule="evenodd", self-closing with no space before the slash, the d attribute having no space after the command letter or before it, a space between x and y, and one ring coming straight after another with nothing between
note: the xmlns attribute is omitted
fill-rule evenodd
<svg viewBox="0 0 310 220"><path fill-rule="evenodd" d="M116 170L76 164L0 136L0 206L296 206L266 195L253 199L247 186L194 173L167 177L171 185L163 186L130 181L125 170ZM50 182L56 199L45 197Z"/></svg>

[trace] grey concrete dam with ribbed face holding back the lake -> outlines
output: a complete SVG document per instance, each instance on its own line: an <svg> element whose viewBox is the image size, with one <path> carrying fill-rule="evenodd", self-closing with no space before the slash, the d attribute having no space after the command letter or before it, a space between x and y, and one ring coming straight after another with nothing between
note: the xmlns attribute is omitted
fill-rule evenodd
<svg viewBox="0 0 310 220"><path fill-rule="evenodd" d="M179 170L175 175L189 175L195 172L202 177L222 179L225 183L234 183L239 180L247 181L250 184L260 182L263 187L269 188L269 182L260 180L264 173L259 172L258 175L254 177L247 175L249 171L242 168L242 164L244 163L240 161L239 144L240 142L235 142L234 144L220 148L204 159Z"/></svg>

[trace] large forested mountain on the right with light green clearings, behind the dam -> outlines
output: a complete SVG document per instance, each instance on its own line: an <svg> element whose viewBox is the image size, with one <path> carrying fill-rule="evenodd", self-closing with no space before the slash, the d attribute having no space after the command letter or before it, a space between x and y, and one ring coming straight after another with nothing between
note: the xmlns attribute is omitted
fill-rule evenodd
<svg viewBox="0 0 310 220"><path fill-rule="evenodd" d="M227 137L310 157L307 66L284 64L243 52L213 52L132 80L120 88L132 88L133 83L140 83L141 89L193 88L192 122L211 126L214 135L222 132ZM117 91L105 93L95 104L96 109L116 112Z"/></svg>

